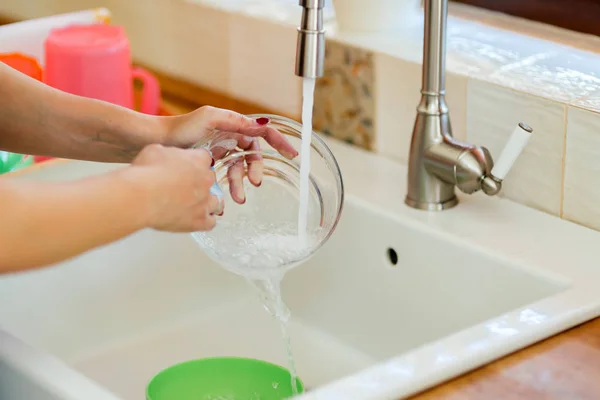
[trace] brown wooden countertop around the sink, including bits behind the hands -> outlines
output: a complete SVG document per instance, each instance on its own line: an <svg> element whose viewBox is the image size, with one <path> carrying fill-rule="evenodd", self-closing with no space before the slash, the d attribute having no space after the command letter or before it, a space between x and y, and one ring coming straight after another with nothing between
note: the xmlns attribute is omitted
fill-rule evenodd
<svg viewBox="0 0 600 400"><path fill-rule="evenodd" d="M173 87L167 84L165 88ZM177 94L167 91L165 110L177 114L194 108L188 96L184 96L188 100L181 102ZM202 98L207 104L224 106L218 97L207 93L198 96L199 91L199 88L186 90L196 93L196 98ZM596 318L410 400L598 400L599 376L600 318Z"/></svg>

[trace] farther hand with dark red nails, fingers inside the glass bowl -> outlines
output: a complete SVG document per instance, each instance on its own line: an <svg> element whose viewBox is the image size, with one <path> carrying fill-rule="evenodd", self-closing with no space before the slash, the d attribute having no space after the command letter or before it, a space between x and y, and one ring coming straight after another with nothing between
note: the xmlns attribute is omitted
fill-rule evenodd
<svg viewBox="0 0 600 400"><path fill-rule="evenodd" d="M268 118L252 119L243 114L214 107L201 107L191 113L173 117L166 144L189 148L209 136L214 143L226 146L211 148L214 159L221 159L234 151L259 151L258 138L262 137L284 157L293 159L298 152L278 130L268 126ZM244 193L244 162L248 166L248 180L260 186L263 162L260 155L249 155L233 164L227 171L231 198L239 204L246 201Z"/></svg>

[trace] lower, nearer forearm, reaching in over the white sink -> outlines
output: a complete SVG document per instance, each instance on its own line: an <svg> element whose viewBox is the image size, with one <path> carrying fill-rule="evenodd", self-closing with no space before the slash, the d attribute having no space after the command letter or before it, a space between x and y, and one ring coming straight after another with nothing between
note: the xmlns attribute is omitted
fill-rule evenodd
<svg viewBox="0 0 600 400"><path fill-rule="evenodd" d="M81 181L0 179L0 274L50 265L147 225L137 167Z"/></svg>

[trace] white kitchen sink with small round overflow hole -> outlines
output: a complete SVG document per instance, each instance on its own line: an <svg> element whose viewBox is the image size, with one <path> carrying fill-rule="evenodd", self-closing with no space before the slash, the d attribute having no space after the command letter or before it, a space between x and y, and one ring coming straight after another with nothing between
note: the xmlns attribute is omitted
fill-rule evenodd
<svg viewBox="0 0 600 400"><path fill-rule="evenodd" d="M412 210L403 166L330 145L342 219L283 282L302 398L402 398L600 314L597 232L503 199ZM15 179L115 167L68 162ZM142 231L2 277L0 326L0 398L141 399L155 373L192 358L286 365L253 289L189 235Z"/></svg>

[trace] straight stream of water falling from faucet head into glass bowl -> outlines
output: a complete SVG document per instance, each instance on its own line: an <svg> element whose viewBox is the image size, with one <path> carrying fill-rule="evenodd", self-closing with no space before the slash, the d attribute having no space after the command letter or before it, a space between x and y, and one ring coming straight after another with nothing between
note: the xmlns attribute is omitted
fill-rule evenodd
<svg viewBox="0 0 600 400"><path fill-rule="evenodd" d="M312 138L312 113L315 94L315 80L302 80L302 146L300 148L300 207L298 208L298 238L306 243L308 220L310 142Z"/></svg>

